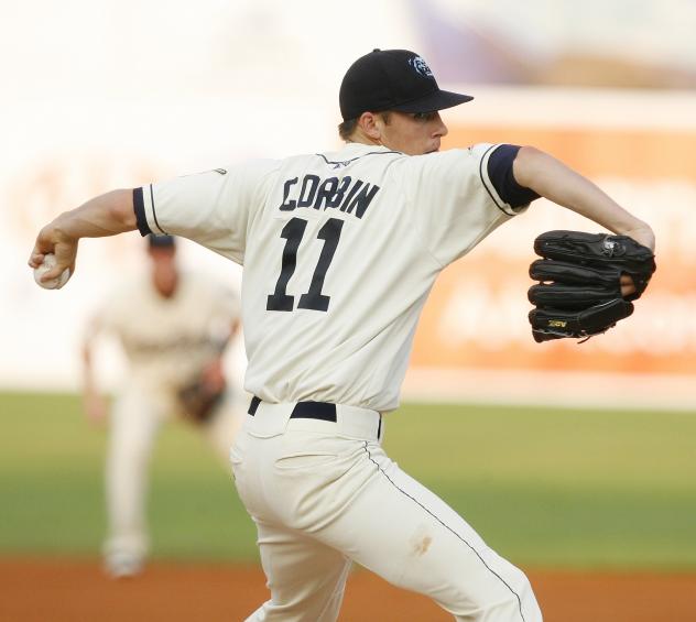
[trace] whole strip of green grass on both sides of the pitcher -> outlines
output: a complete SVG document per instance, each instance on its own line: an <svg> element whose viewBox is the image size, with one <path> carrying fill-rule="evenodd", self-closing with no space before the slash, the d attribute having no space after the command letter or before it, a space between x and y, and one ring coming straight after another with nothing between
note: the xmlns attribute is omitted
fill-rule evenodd
<svg viewBox="0 0 696 622"><path fill-rule="evenodd" d="M0 555L98 554L106 430L70 395L0 395ZM696 416L406 405L385 446L516 564L696 568ZM229 470L165 426L149 520L160 558L255 559Z"/></svg>

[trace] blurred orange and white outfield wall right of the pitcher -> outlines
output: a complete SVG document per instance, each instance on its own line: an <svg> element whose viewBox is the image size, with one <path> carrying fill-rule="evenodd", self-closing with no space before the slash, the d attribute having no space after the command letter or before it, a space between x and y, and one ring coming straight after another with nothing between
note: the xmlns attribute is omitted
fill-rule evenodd
<svg viewBox="0 0 696 622"><path fill-rule="evenodd" d="M460 107L447 146L532 144L652 225L657 272L633 316L603 336L536 343L526 313L534 238L600 228L540 199L436 284L409 388L449 399L648 407L696 405L696 96L486 90Z"/></svg>

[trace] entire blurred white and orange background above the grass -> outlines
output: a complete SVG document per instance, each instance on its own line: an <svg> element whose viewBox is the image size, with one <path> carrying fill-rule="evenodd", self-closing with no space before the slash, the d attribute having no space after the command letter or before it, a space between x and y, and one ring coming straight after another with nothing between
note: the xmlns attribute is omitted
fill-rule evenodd
<svg viewBox="0 0 696 622"><path fill-rule="evenodd" d="M370 18L358 23L363 10ZM443 273L406 396L534 401L543 390L572 403L692 407L695 23L688 0L356 0L350 15L317 0L3 7L0 386L77 388L87 315L143 265L137 233L85 240L76 277L59 293L42 291L25 266L41 225L113 187L335 149L340 78L379 46L418 51L444 87L476 96L444 114L445 146L536 145L657 233L659 270L630 320L581 346L537 345L526 321L533 239L595 228L534 203ZM213 253L183 251L189 265L239 282ZM243 367L243 352L235 357ZM118 354L109 361L116 381Z"/></svg>

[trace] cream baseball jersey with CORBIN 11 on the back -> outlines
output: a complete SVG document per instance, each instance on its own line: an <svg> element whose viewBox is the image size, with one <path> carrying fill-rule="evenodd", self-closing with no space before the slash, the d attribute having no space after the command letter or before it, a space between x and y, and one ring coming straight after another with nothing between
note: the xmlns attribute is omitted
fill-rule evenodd
<svg viewBox="0 0 696 622"><path fill-rule="evenodd" d="M247 391L387 412L437 274L520 211L489 179L497 146L349 143L180 177L135 192L139 228L244 265Z"/></svg>

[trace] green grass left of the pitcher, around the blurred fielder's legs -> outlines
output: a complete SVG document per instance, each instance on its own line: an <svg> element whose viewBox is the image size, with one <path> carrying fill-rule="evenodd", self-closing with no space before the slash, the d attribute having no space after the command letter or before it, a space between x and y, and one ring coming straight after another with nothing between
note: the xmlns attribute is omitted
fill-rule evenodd
<svg viewBox="0 0 696 622"><path fill-rule="evenodd" d="M98 554L107 430L70 395L0 395L0 555ZM185 425L166 425L151 465L153 555L255 559L255 528L229 469Z"/></svg>

